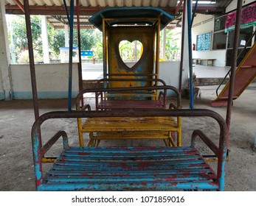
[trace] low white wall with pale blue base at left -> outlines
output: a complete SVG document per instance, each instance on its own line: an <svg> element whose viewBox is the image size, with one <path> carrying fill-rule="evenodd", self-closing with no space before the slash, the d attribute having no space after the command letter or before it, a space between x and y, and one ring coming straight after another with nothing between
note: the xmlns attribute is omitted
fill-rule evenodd
<svg viewBox="0 0 256 206"><path fill-rule="evenodd" d="M30 65L11 65L13 99L32 99ZM77 64L73 64L72 97L77 96ZM36 64L38 99L68 98L69 64Z"/></svg>

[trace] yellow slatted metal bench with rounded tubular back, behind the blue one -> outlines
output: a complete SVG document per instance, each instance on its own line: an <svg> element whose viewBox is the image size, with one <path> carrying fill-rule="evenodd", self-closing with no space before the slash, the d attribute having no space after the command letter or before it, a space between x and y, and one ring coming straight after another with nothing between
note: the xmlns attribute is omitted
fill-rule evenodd
<svg viewBox="0 0 256 206"><path fill-rule="evenodd" d="M140 88L129 88L131 91L145 90L152 87L140 87ZM174 90L177 94L176 104L170 103L169 107L155 107L153 104L151 106L145 107L145 109L152 110L170 110L181 108L181 97L176 90L171 86L154 86L156 90L164 90L166 93L167 89ZM95 90L83 90L77 95L77 110L91 110L89 104L81 105L80 99L84 93L95 93L96 97L99 97L99 93L109 92L109 91L119 91L128 90L128 88L99 88ZM162 91L161 91L162 92ZM165 95L164 95L165 96ZM97 98L96 98L97 99ZM111 100L117 101L118 100ZM136 100L137 102L144 102L147 100ZM158 100L148 100L148 104L156 102ZM166 98L164 99L166 105ZM96 101L96 110L98 110L97 104L100 100ZM126 104L125 104L126 102ZM129 104L134 102L134 104ZM127 106L125 106L127 105ZM132 110L141 109L143 110L141 103L136 103L134 100L123 100L120 107L116 107L115 110ZM105 110L108 110L105 108ZM111 110L114 110L111 108ZM84 121L82 118L77 118L78 134L80 146L84 146L83 133L89 134L89 142L86 146L99 146L100 140L114 140L114 139L162 139L165 146L181 146L181 117L117 117L117 118L86 118ZM100 127L99 127L100 126ZM157 133L157 135L156 135ZM177 136L177 143L174 142L174 135Z"/></svg>

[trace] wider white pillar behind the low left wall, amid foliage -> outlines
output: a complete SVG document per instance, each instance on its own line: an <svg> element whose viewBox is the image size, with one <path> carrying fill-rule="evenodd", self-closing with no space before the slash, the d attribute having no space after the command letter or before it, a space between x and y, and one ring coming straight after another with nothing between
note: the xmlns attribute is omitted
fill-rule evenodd
<svg viewBox="0 0 256 206"><path fill-rule="evenodd" d="M43 54L44 54L44 63L49 63L49 43L48 43L48 33L47 33L47 21L46 16L41 16L41 38L43 43Z"/></svg>

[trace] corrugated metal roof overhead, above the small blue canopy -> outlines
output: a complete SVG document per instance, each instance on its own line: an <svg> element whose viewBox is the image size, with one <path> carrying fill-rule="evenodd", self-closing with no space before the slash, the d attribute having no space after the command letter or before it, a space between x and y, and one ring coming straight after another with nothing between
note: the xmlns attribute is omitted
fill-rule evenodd
<svg viewBox="0 0 256 206"><path fill-rule="evenodd" d="M8 14L24 13L24 0L4 1L6 12ZM204 3L204 1L206 2L206 0L198 1L201 1L200 3ZM216 4L198 4L197 11L198 13L207 12L211 14L223 14L225 7L231 1L232 0L215 0ZM61 28L64 24L68 24L63 0L30 0L29 3L31 15L46 15L48 22L55 28ZM70 0L66 0L66 4L69 7ZM181 22L181 13L177 13L177 11L182 10L182 7L179 7L179 0L80 0L79 8L81 27L92 26L91 23L89 23L88 18L107 7L159 7L175 17L168 25L169 27L179 26ZM76 18L74 24L76 25Z"/></svg>

